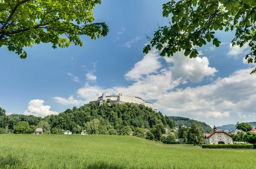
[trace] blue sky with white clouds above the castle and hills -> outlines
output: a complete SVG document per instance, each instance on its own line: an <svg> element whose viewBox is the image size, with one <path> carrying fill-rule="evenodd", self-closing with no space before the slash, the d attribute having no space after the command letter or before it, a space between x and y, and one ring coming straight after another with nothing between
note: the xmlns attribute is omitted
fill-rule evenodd
<svg viewBox="0 0 256 169"><path fill-rule="evenodd" d="M0 107L7 114L58 114L96 100L96 94L124 93L153 103L163 115L183 116L210 126L256 121L256 75L244 56L248 45L232 47L234 32L217 31L221 45L209 43L200 56L183 51L173 57L152 49L143 54L158 25L167 25L162 5L167 0L102 0L95 22L110 32L84 46L25 48L20 59L0 48Z"/></svg>

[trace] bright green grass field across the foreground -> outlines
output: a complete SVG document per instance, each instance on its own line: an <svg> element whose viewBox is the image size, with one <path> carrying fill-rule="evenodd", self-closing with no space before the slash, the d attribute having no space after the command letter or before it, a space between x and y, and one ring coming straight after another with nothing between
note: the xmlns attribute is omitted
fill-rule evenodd
<svg viewBox="0 0 256 169"><path fill-rule="evenodd" d="M0 169L256 169L255 157L131 136L0 135Z"/></svg>

